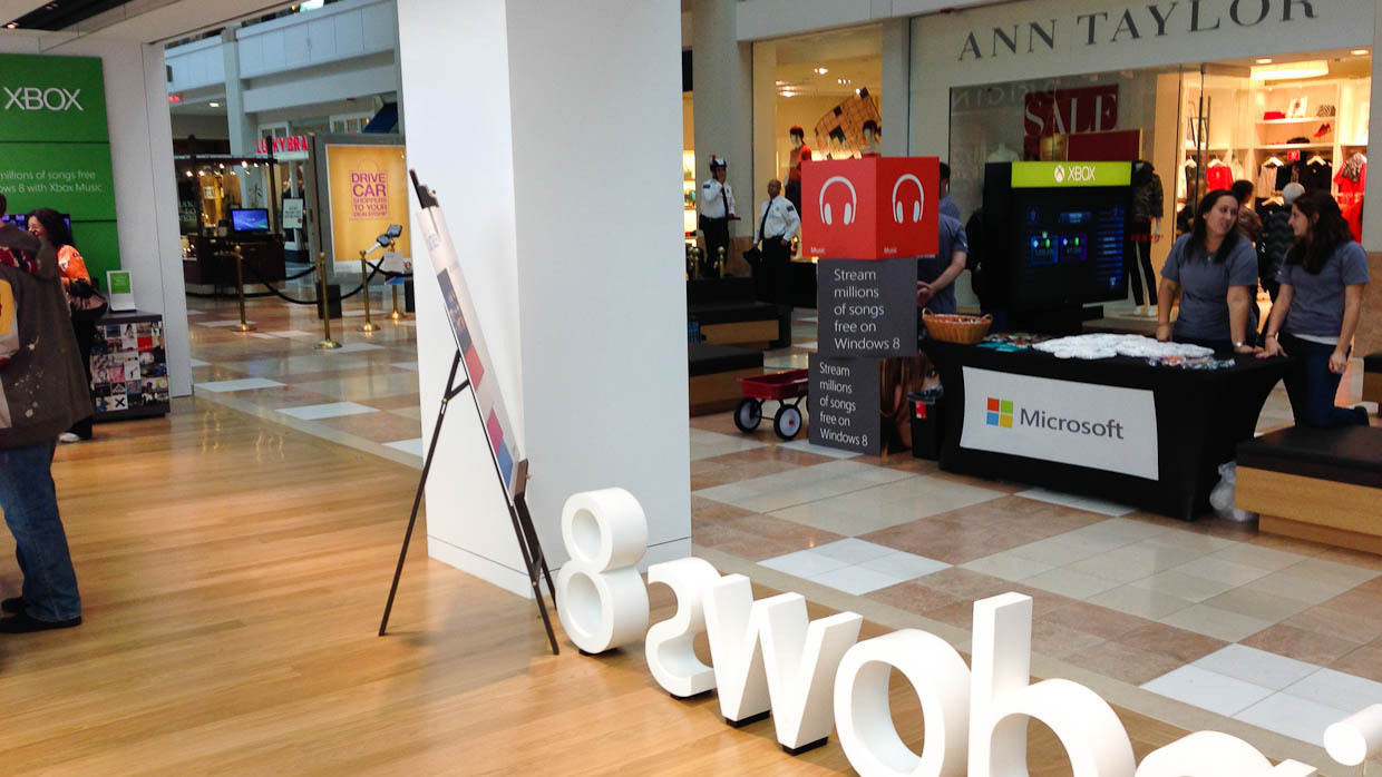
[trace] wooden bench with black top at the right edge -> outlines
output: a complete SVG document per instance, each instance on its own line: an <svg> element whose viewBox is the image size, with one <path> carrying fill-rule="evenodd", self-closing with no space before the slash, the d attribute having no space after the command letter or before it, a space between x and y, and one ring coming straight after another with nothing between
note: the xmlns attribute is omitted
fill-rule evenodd
<svg viewBox="0 0 1382 777"><path fill-rule="evenodd" d="M1245 440L1236 501L1265 533L1382 553L1382 428L1292 426Z"/></svg>

